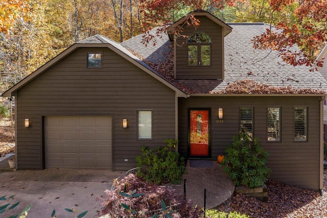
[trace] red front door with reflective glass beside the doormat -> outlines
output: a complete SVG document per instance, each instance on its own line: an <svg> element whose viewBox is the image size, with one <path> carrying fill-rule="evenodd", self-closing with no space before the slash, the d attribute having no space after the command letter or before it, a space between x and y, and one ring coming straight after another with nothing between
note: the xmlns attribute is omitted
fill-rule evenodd
<svg viewBox="0 0 327 218"><path fill-rule="evenodd" d="M209 110L189 110L190 157L209 157Z"/></svg>

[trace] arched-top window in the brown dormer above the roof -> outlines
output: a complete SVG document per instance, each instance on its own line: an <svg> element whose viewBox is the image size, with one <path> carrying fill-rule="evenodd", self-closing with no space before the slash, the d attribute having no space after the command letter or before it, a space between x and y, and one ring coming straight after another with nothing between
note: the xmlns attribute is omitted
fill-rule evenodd
<svg viewBox="0 0 327 218"><path fill-rule="evenodd" d="M211 38L204 32L194 32L187 40L188 66L211 65Z"/></svg>

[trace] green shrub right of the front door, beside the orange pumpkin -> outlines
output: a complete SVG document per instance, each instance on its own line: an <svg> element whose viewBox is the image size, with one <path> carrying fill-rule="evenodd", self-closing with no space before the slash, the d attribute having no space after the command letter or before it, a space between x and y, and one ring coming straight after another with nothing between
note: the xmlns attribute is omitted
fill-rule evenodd
<svg viewBox="0 0 327 218"><path fill-rule="evenodd" d="M233 141L225 150L223 169L236 186L263 186L270 171L266 166L268 152L261 147L258 139L252 141L247 133L239 132Z"/></svg>

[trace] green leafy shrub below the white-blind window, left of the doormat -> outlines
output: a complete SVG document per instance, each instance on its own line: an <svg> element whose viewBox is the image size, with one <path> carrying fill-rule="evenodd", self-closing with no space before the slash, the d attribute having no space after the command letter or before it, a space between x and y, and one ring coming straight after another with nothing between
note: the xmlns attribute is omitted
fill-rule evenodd
<svg viewBox="0 0 327 218"><path fill-rule="evenodd" d="M141 147L142 155L136 157L137 166L145 167L146 171L138 170L137 176L154 184L179 184L185 172L184 158L171 150L176 146L177 140L167 139L165 143L167 147L157 147L156 150Z"/></svg>

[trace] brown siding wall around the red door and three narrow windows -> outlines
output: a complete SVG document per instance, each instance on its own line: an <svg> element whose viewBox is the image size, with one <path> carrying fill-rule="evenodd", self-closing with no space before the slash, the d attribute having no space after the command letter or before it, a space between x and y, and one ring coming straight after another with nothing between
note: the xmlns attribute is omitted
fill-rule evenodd
<svg viewBox="0 0 327 218"><path fill-rule="evenodd" d="M270 177L302 188L319 189L320 103L319 97L191 97L179 99L179 152L188 155L189 107L212 108L212 160L216 160L239 130L239 107L254 107L254 137L268 150ZM281 106L281 142L266 140L266 107ZM293 140L293 106L308 106L308 141ZM218 108L223 123L217 123Z"/></svg>

